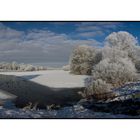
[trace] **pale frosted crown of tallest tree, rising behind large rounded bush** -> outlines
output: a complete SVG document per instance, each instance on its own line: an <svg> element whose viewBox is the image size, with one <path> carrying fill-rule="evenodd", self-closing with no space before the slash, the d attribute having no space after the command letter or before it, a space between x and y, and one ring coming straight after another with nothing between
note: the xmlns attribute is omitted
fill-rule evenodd
<svg viewBox="0 0 140 140"><path fill-rule="evenodd" d="M128 32L113 32L105 39L103 59L126 58L132 60L139 71L140 48L137 47L137 39Z"/></svg>

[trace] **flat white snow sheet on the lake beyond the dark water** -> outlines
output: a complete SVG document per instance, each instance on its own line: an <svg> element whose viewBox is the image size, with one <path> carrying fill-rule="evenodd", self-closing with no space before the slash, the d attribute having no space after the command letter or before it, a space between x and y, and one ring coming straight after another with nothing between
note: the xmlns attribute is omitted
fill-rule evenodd
<svg viewBox="0 0 140 140"><path fill-rule="evenodd" d="M64 70L45 70L32 72L0 72L4 75L15 75L52 88L85 87L87 75L72 75Z"/></svg>

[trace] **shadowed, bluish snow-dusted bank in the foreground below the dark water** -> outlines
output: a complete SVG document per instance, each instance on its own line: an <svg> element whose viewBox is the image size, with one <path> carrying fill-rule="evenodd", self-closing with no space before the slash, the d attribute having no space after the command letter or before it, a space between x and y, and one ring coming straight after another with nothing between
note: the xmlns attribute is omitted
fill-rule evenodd
<svg viewBox="0 0 140 140"><path fill-rule="evenodd" d="M34 111L0 107L0 118L140 118L140 116L95 112L80 105L74 105L58 110Z"/></svg>

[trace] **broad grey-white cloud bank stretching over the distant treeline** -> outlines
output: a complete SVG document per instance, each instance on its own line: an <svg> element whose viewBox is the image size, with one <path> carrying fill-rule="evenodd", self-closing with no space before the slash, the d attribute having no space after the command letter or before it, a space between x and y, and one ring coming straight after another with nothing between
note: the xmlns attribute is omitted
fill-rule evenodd
<svg viewBox="0 0 140 140"><path fill-rule="evenodd" d="M77 45L100 46L96 40L74 40L48 30L17 31L0 24L0 61L68 61Z"/></svg>

